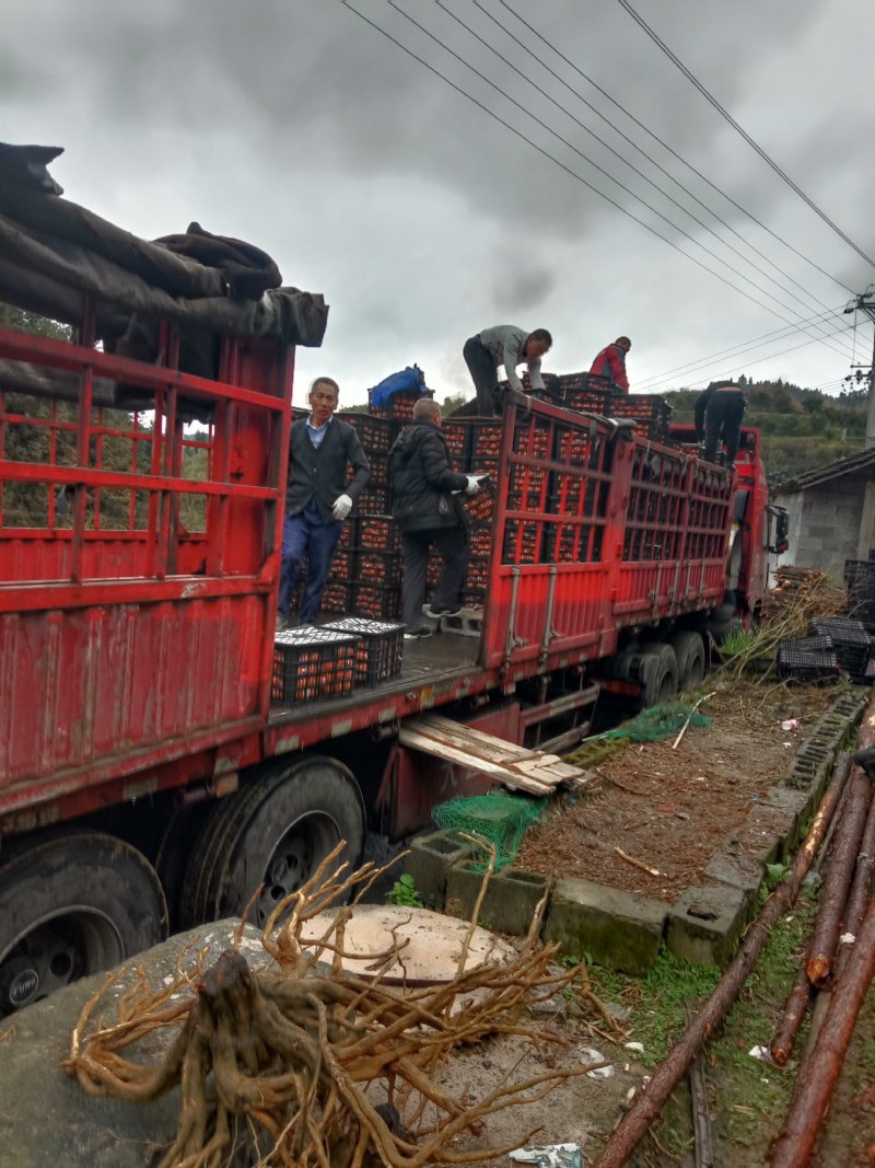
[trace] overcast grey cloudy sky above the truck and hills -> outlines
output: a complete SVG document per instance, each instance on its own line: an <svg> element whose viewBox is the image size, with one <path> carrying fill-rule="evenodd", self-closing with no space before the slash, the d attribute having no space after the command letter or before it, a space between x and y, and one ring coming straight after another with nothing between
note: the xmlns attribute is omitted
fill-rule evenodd
<svg viewBox="0 0 875 1168"><path fill-rule="evenodd" d="M875 281L872 4L631 4L859 251L618 0L6 0L0 139L63 146L66 196L139 235L270 251L331 306L300 378L346 403L413 362L467 392L496 324L550 328L556 373L625 333L632 390L838 392L872 354L836 332Z"/></svg>

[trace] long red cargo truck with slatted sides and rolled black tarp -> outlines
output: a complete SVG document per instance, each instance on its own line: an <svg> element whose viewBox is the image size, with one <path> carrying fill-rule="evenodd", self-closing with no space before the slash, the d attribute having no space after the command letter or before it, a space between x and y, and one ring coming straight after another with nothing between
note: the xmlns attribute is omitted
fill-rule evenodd
<svg viewBox="0 0 875 1168"><path fill-rule="evenodd" d="M480 603L405 642L399 672L301 700L294 669L274 669L274 623L294 347L321 336L318 298L181 292L197 265L168 274L163 249L57 196L24 204L0 182L0 211L27 221L27 246L0 256L0 300L69 326L0 329L1 1010L154 944L168 910L189 926L261 888L264 920L340 840L355 862L366 833L404 837L438 801L484 790L434 729L422 752L424 711L506 743L511 762L520 745L561 750L600 684L652 702L700 677L727 590L755 610L755 436L737 514L730 475L694 451L517 396L501 423L453 437L460 465L494 475L473 536ZM384 552L359 543L345 563L356 578L371 555L371 582L385 565L369 585L385 617ZM349 588L334 595L356 613Z"/></svg>

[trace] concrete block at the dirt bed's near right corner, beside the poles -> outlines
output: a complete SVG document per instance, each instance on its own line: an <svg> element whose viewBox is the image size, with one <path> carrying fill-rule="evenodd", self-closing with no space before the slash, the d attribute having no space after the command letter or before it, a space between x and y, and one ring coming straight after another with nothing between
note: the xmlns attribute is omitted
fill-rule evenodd
<svg viewBox="0 0 875 1168"><path fill-rule="evenodd" d="M723 969L747 919L740 888L688 888L668 913L665 944L682 961Z"/></svg>

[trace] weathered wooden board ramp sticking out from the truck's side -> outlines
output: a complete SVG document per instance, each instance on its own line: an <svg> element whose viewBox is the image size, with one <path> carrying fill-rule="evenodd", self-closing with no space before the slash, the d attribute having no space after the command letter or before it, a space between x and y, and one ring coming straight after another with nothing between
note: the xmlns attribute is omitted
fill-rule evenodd
<svg viewBox="0 0 875 1168"><path fill-rule="evenodd" d="M407 718L398 741L411 750L478 771L495 783L533 795L552 794L562 785L581 787L593 780L590 771L564 763L558 755L518 746L439 714Z"/></svg>

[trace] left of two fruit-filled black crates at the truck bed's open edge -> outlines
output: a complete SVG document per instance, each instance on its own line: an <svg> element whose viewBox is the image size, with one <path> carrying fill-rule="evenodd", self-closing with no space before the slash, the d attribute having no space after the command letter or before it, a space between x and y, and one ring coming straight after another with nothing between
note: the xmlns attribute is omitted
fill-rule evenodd
<svg viewBox="0 0 875 1168"><path fill-rule="evenodd" d="M295 705L350 694L358 641L357 637L324 626L276 633L271 700L281 705Z"/></svg>

